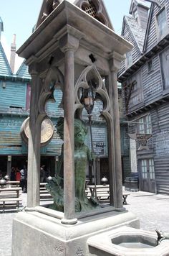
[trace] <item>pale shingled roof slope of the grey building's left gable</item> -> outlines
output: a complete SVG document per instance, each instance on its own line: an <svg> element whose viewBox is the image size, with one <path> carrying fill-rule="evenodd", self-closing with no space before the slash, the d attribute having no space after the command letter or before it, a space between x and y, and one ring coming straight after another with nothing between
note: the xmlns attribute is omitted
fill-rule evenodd
<svg viewBox="0 0 169 256"><path fill-rule="evenodd" d="M130 28L130 32L132 33L133 39L135 40L137 47L139 48L140 52L143 52L146 30L140 27L134 17L125 16L122 24L122 35L125 29L125 22Z"/></svg>

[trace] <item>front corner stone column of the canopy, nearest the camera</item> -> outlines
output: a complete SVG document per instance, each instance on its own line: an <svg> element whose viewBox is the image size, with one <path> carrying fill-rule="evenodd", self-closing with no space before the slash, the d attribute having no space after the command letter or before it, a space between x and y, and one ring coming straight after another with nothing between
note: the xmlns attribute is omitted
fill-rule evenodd
<svg viewBox="0 0 169 256"><path fill-rule="evenodd" d="M79 40L64 35L59 41L64 52L64 219L63 224L75 224L74 192L74 51Z"/></svg>

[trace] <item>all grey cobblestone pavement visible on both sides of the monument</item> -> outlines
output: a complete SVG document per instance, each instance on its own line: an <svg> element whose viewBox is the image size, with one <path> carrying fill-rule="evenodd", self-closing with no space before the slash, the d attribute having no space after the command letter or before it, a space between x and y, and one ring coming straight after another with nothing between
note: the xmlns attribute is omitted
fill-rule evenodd
<svg viewBox="0 0 169 256"><path fill-rule="evenodd" d="M147 192L130 192L125 208L140 219L140 228L169 232L169 196L155 195ZM21 195L26 206L26 194ZM11 256L12 220L16 212L0 214L0 255ZM24 256L24 255L23 255ZM33 255L32 255L33 256Z"/></svg>

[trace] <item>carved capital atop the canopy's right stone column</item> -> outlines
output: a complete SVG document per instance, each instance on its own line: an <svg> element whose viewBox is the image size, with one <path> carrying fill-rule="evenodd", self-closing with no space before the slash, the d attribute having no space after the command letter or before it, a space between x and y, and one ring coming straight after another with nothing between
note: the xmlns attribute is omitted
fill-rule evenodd
<svg viewBox="0 0 169 256"><path fill-rule="evenodd" d="M117 52L112 52L109 60L110 70L117 73L120 70L122 60L125 60L124 55L120 55Z"/></svg>

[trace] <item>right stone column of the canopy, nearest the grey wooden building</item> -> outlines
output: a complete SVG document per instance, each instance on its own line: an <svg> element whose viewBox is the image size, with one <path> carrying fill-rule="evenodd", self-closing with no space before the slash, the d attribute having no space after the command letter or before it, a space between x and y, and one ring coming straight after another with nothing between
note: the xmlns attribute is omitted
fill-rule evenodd
<svg viewBox="0 0 169 256"><path fill-rule="evenodd" d="M113 129L113 144L114 144L114 173L113 173L113 201L117 209L123 209L122 205L122 164L121 164L121 147L120 147L120 116L118 104L118 89L117 89L117 72L120 69L120 63L123 60L122 55L113 52L110 60L110 78L109 78L109 93L112 109L112 129Z"/></svg>

